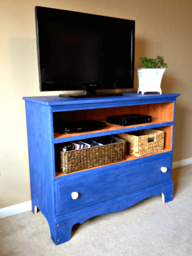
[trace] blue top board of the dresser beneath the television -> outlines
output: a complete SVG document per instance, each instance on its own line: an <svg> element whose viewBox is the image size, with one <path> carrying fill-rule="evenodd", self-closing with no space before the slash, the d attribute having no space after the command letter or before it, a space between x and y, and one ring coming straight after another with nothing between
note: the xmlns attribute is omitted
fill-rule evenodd
<svg viewBox="0 0 192 256"><path fill-rule="evenodd" d="M161 102L171 102L180 94L162 93L162 94L140 94L124 93L124 96L104 97L104 98L85 98L70 99L59 96L45 97L23 97L24 100L36 102L42 105L51 106L54 112L70 111L80 109L110 108L121 106L133 106L142 104L152 104Z"/></svg>

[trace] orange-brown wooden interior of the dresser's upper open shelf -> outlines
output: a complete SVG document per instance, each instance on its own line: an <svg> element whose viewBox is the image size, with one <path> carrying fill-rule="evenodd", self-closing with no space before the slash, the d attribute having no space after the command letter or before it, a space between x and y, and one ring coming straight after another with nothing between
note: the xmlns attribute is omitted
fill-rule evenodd
<svg viewBox="0 0 192 256"><path fill-rule="evenodd" d="M76 111L65 111L65 112L54 112L53 120L97 120L100 122L106 122L107 116L117 116L117 115L126 115L126 114L143 114L152 116L152 122L145 124L159 124L164 122L173 121L173 110L174 102L165 102L165 103L156 103L156 104L146 104L146 105L137 105L137 106L125 106L125 107L116 107L116 108L101 108L101 109L86 109L86 110L76 110ZM94 134L97 132L105 131L114 131L126 127L140 126L120 126L116 124L108 124L105 128L100 130L91 131L91 132L71 132L71 133L58 133L54 132L54 138L65 138L72 137L83 134ZM94 136L94 135L93 135Z"/></svg>

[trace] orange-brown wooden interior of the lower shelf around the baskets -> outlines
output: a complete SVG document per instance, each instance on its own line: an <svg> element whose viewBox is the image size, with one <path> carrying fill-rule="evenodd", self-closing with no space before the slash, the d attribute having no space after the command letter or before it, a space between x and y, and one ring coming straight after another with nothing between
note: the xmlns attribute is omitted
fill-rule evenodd
<svg viewBox="0 0 192 256"><path fill-rule="evenodd" d="M145 155L145 156L140 156L140 157L136 157L136 156L131 156L131 155L128 155L128 154L125 154L125 160L124 161L131 161L131 160L134 160L134 159L138 159L138 158L141 158L141 157L146 157L146 156L151 156L151 155L155 155L155 154L161 154L161 153L164 153L164 152L168 152L168 151L171 151L172 150L172 132L173 132L173 126L164 126L164 127L158 127L156 128L157 130L161 130L161 131L164 131L164 150L162 151L159 151L159 152L156 152L156 153L153 153L153 154L148 154L148 155ZM57 145L58 147L59 145ZM58 154L57 154L58 155ZM60 159L55 157L56 161L58 161L60 163ZM123 162L123 161L122 161ZM118 162L119 163L119 162ZM114 164L114 163L111 163L111 164ZM101 165L101 166L105 166L105 165ZM98 168L98 167L101 167L101 166L97 166L97 167L92 167L90 169L95 169L95 168ZM61 176L65 176L65 175L70 175L71 173L60 173L58 171L59 169L59 166L56 164L56 178L57 177L61 177ZM78 172L83 172L85 170L80 170ZM72 172L74 173L74 172Z"/></svg>

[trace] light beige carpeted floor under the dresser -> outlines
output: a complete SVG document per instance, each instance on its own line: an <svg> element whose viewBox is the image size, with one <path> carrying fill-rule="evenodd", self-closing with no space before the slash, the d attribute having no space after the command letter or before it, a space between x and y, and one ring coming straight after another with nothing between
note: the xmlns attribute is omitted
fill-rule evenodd
<svg viewBox="0 0 192 256"><path fill-rule="evenodd" d="M0 220L1 256L191 256L192 165L174 169L174 199L148 198L87 220L70 241L54 245L41 212Z"/></svg>

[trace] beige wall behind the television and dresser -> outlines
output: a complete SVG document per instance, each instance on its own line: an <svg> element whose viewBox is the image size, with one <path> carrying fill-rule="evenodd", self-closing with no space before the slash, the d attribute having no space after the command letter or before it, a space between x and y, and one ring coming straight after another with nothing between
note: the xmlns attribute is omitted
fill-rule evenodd
<svg viewBox="0 0 192 256"><path fill-rule="evenodd" d="M139 57L164 56L163 92L177 100L173 161L192 157L192 7L190 0L12 0L0 5L0 208L30 200L23 96L40 92L34 7L45 6L136 21ZM114 31L115 32L115 31ZM138 87L135 75L135 89Z"/></svg>

